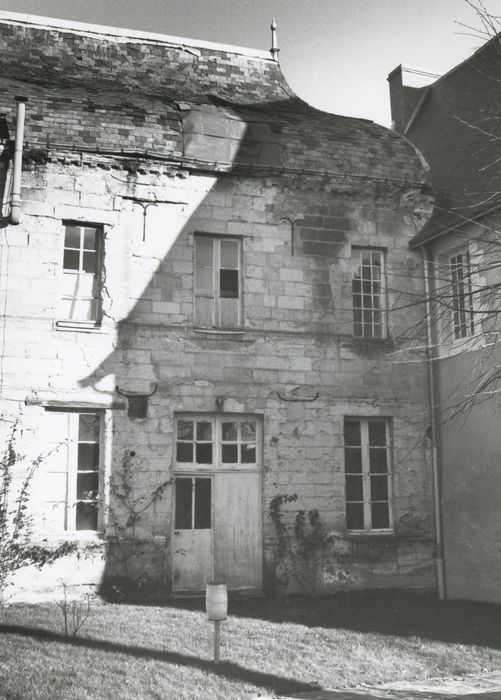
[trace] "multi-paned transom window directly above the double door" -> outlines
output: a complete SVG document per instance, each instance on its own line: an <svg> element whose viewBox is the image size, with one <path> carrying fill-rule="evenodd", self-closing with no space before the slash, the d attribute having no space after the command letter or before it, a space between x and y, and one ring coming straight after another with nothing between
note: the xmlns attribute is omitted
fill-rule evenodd
<svg viewBox="0 0 501 700"><path fill-rule="evenodd" d="M258 461L255 418L208 416L178 418L176 463L181 466L251 466Z"/></svg>

